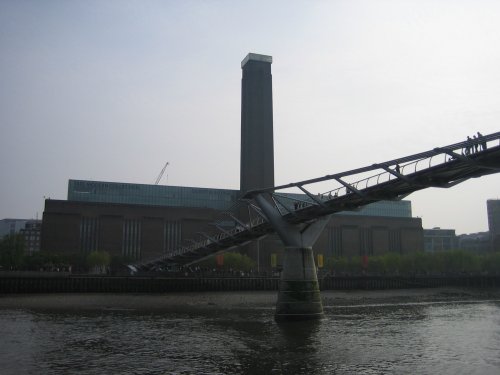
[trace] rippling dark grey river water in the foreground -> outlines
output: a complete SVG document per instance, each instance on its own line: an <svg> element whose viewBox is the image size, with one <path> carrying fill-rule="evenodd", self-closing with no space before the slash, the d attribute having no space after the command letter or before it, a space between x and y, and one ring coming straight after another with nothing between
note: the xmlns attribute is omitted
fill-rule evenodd
<svg viewBox="0 0 500 375"><path fill-rule="evenodd" d="M154 313L0 310L1 374L498 374L500 303Z"/></svg>

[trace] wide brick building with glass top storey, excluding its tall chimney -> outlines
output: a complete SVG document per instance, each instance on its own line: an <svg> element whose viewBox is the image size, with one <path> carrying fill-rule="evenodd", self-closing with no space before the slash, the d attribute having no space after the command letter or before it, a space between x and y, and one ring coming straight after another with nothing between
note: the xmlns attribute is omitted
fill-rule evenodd
<svg viewBox="0 0 500 375"><path fill-rule="evenodd" d="M42 250L155 258L216 230L211 224L238 195L237 190L71 180L68 200L45 201ZM226 225L234 222L228 218ZM314 249L325 256L405 253L421 250L422 239L422 222L412 218L410 201L381 201L332 215ZM282 250L274 235L242 248L259 270L271 267L271 254L279 261Z"/></svg>

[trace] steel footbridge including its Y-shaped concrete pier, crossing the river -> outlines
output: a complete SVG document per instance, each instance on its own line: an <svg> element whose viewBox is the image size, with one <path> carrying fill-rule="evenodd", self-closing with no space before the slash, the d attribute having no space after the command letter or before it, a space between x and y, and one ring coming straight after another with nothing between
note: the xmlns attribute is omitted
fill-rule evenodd
<svg viewBox="0 0 500 375"><path fill-rule="evenodd" d="M198 232L199 238L191 239L189 246L130 268L160 270L190 265L275 232L285 245L275 319L321 318L323 305L312 246L330 215L497 173L499 142L500 132L479 135L363 168L247 191L212 228Z"/></svg>

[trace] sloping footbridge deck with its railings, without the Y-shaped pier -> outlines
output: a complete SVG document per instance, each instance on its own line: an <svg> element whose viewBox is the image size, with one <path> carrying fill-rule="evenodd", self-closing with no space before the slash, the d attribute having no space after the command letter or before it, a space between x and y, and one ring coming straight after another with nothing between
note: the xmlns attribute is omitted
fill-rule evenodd
<svg viewBox="0 0 500 375"><path fill-rule="evenodd" d="M230 215L235 223L231 230L218 226L218 232L202 233L203 238L192 241L190 246L134 266L150 270L168 264L188 265L273 233L271 224L253 202L258 194L268 194L285 220L300 224L381 200L402 199L425 188L449 188L470 178L498 173L499 140L500 132L497 132L484 136L477 152L472 142L465 141L351 171L247 192L243 200L248 205L248 221L242 222L236 214ZM335 186L323 194L312 194L306 189L306 186L319 183L334 183ZM282 192L291 188L299 189L302 197Z"/></svg>

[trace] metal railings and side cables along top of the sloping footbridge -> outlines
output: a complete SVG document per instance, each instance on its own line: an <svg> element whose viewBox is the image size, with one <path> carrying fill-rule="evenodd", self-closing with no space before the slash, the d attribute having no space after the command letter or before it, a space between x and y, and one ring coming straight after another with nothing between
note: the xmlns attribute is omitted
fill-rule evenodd
<svg viewBox="0 0 500 375"><path fill-rule="evenodd" d="M363 191L368 188L398 180L403 176L425 171L457 159L470 159L470 156L472 155L479 154L482 151L498 146L499 139L500 132L497 132L483 136L481 139L470 141L466 140L448 145L446 147L435 148L423 153L389 160L384 163L372 164L371 166L333 175L247 192L244 196L245 202L237 202L231 208L234 212L234 216L231 216L234 221L232 228L221 229L217 234L212 235L212 238L209 237L197 240L192 239L189 241L190 243L188 245L183 245L177 249L173 249L173 251L168 254L165 254L164 256L153 261L149 261L147 264L151 265L172 261L173 258L180 257L188 253L196 254L200 251L200 249L209 248L210 250L211 248L217 248L218 244L222 244L222 247L227 249L236 246L238 243L248 241L248 239L244 236L245 234L259 229L262 226L269 225L261 214L254 218L250 216L246 223L240 222L236 219L236 216L238 216L236 212L241 209L241 205L249 205L252 202L253 196L256 194L270 193L278 211L283 216L289 215L293 214L293 212L298 212L311 206L318 206L325 201L345 197L348 194L356 192L363 193ZM314 186L319 183L333 184L333 186L331 188L329 187L326 191L323 190L325 191L323 193L316 194L305 188L309 187L309 185ZM287 189L298 189L299 194L282 192ZM288 200L288 202L285 202L284 200ZM261 233L262 231L257 230L257 232Z"/></svg>

